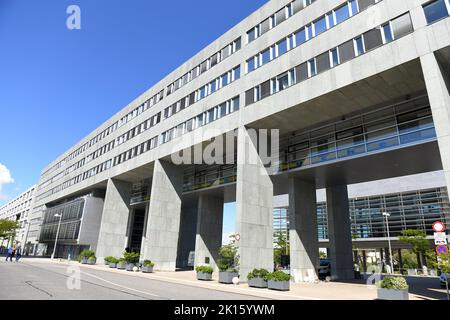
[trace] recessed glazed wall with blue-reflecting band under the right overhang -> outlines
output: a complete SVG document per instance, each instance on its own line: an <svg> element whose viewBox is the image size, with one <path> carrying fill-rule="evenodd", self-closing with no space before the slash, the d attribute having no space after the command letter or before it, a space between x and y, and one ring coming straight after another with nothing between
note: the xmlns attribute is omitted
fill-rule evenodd
<svg viewBox="0 0 450 320"><path fill-rule="evenodd" d="M421 97L289 137L280 170L308 167L435 138L428 98Z"/></svg>

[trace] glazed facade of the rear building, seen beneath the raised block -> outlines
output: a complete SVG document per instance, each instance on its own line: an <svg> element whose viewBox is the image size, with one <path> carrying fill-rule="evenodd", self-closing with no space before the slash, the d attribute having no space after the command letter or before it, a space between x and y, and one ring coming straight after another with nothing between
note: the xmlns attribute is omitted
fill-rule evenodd
<svg viewBox="0 0 450 320"><path fill-rule="evenodd" d="M388 212L389 233L398 237L406 229L418 229L432 236L433 222L450 223L450 204L447 188L433 188L411 192L358 197L349 199L351 232L357 239L386 238L387 226L383 212ZM328 239L326 202L317 204L319 240ZM274 232L289 230L288 210L274 209ZM284 229L283 229L284 228Z"/></svg>

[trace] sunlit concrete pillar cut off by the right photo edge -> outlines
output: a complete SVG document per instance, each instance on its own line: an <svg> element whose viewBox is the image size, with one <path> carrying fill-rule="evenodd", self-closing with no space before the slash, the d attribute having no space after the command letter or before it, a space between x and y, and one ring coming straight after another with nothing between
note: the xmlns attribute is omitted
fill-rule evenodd
<svg viewBox="0 0 450 320"><path fill-rule="evenodd" d="M421 56L420 63L430 100L447 189L450 190L450 79L440 68L433 53Z"/></svg>

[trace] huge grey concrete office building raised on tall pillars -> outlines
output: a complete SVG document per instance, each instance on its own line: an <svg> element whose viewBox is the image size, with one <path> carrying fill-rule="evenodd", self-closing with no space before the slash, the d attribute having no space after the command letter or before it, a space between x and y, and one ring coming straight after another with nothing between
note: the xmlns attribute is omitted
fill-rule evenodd
<svg viewBox="0 0 450 320"><path fill-rule="evenodd" d="M273 267L273 196L288 194L291 271L311 281L325 189L332 274L352 277L348 185L439 170L450 184L449 5L269 1L49 164L33 219L101 198L82 213L100 221L98 257L133 247L175 270L194 250L195 264L215 265L235 201L245 281ZM257 143L253 129L279 131ZM266 144L279 151L270 163Z"/></svg>

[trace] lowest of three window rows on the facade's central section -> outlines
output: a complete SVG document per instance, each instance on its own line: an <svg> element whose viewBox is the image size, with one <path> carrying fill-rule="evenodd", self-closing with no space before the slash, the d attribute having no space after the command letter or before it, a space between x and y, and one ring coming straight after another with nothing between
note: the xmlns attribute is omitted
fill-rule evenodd
<svg viewBox="0 0 450 320"><path fill-rule="evenodd" d="M193 117L179 124L178 126L163 132L161 134L160 143L167 143L175 138L182 136L185 133L191 132L238 110L239 96L236 96L233 99L221 103L218 106L215 106L206 112L202 112L196 117Z"/></svg>

